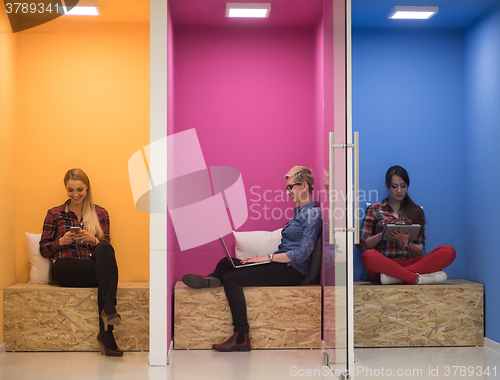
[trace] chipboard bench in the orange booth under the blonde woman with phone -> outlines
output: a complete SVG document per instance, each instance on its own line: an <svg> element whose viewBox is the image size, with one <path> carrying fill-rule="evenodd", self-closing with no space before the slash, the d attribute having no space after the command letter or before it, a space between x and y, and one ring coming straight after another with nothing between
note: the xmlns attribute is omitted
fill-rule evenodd
<svg viewBox="0 0 500 380"><path fill-rule="evenodd" d="M149 349L149 283L118 284L114 330L123 351ZM99 351L97 288L19 283L3 290L6 351Z"/></svg>

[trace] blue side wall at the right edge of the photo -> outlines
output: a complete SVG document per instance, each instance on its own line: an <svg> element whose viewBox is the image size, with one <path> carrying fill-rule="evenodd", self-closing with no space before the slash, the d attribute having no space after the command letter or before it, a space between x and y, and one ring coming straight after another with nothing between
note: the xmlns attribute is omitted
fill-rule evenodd
<svg viewBox="0 0 500 380"><path fill-rule="evenodd" d="M464 30L466 274L484 284L486 337L500 342L500 7Z"/></svg>

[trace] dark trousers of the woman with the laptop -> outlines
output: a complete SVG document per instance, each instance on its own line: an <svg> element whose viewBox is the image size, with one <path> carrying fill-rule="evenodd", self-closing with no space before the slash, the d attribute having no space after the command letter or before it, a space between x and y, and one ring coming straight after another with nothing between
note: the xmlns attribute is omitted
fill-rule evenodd
<svg viewBox="0 0 500 380"><path fill-rule="evenodd" d="M236 265L241 264L238 259L233 259L233 261ZM241 333L249 332L243 286L293 286L300 284L305 277L305 275L286 263L273 262L234 269L227 258L220 260L209 276L221 280L231 308L234 332Z"/></svg>

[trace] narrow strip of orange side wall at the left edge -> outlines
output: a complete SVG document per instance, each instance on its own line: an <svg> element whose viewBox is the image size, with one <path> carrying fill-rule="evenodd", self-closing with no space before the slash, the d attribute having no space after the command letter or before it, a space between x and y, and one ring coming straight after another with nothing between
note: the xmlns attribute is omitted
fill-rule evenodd
<svg viewBox="0 0 500 380"><path fill-rule="evenodd" d="M15 69L16 35L11 32L3 1L0 2L0 289L16 282L15 206ZM3 292L0 292L0 322ZM0 328L0 344L3 329Z"/></svg>

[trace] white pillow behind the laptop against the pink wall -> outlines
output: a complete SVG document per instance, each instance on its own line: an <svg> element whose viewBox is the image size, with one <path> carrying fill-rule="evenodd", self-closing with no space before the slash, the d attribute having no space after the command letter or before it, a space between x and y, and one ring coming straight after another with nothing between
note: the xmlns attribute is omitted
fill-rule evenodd
<svg viewBox="0 0 500 380"><path fill-rule="evenodd" d="M263 256L278 249L281 244L281 230L276 231L233 231L236 258L243 260L250 256Z"/></svg>

